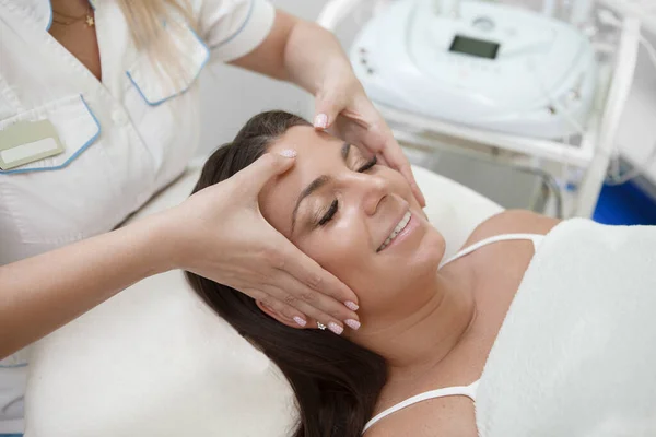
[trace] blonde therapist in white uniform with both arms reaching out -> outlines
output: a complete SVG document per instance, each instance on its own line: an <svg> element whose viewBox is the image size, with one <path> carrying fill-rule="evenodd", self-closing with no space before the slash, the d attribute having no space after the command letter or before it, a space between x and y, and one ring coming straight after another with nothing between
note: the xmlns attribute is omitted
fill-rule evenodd
<svg viewBox="0 0 656 437"><path fill-rule="evenodd" d="M352 291L258 212L293 150L120 227L194 155L208 62L302 86L317 129L413 184L335 37L266 0L0 0L0 434L23 432L24 347L159 272L191 270L300 323L358 320Z"/></svg>

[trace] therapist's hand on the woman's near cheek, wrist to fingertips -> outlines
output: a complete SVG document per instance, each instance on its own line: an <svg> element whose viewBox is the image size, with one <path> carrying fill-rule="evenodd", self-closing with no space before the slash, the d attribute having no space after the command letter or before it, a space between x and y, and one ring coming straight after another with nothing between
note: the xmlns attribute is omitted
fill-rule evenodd
<svg viewBox="0 0 656 437"><path fill-rule="evenodd" d="M276 231L258 206L262 187L294 165L295 152L285 152L289 157L265 154L172 210L173 258L176 268L238 290L290 322L309 328L318 321L341 333L344 324L359 327L358 297Z"/></svg>

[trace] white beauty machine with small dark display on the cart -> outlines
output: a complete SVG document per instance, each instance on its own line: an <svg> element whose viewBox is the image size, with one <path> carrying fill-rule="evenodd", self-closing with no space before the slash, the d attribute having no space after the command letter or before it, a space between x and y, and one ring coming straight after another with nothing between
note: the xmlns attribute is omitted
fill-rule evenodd
<svg viewBox="0 0 656 437"><path fill-rule="evenodd" d="M576 26L482 1L393 1L350 58L379 105L534 138L584 131L597 84Z"/></svg>

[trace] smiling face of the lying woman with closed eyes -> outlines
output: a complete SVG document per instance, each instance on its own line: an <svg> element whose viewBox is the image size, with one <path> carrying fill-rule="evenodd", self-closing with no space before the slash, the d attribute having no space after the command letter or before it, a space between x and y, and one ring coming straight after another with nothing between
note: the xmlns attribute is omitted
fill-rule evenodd
<svg viewBox="0 0 656 437"><path fill-rule="evenodd" d="M405 178L312 127L290 129L269 152L285 149L296 164L262 190L265 218L353 290L361 320L412 308L445 246Z"/></svg>

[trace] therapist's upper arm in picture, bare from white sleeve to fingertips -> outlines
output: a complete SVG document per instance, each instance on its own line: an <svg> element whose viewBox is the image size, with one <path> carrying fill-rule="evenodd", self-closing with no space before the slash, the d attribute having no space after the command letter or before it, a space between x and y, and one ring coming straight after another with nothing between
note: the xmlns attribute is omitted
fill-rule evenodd
<svg viewBox="0 0 656 437"><path fill-rule="evenodd" d="M317 129L333 128L342 139L379 155L382 162L403 175L418 201L425 205L410 163L330 32L277 11L273 27L263 43L231 63L295 83L314 95Z"/></svg>

